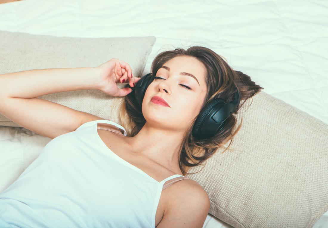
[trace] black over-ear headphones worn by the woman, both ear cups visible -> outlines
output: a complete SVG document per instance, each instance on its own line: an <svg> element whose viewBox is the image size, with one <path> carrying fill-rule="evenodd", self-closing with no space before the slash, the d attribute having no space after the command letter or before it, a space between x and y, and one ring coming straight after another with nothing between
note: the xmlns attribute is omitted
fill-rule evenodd
<svg viewBox="0 0 328 228"><path fill-rule="evenodd" d="M148 73L137 82L134 87L130 87L132 93L142 107L142 100L145 96L146 90L150 83L154 80L152 73ZM226 103L222 98L214 98L203 111L199 113L195 124L193 126L193 136L196 138L204 139L214 136L218 131L221 131L224 127L225 121L228 117L234 113L239 105L239 91L235 85L234 100L230 103Z"/></svg>

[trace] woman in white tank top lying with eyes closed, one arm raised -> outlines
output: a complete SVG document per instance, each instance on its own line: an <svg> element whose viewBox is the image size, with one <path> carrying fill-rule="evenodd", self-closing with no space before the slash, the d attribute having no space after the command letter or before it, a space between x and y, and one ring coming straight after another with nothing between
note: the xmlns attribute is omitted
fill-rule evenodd
<svg viewBox="0 0 328 228"><path fill-rule="evenodd" d="M0 194L0 226L203 226L209 197L184 175L232 139L236 117L207 138L193 135L195 120L216 97L228 103L238 92L245 102L263 88L205 47L162 52L151 72L141 104L132 93L140 78L119 59L0 75L0 113L53 138ZM124 96L122 125L36 98L79 89Z"/></svg>

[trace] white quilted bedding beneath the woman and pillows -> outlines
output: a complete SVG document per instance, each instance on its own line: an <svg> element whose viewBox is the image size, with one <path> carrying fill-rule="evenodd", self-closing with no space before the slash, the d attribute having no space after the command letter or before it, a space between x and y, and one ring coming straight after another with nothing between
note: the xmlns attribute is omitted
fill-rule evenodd
<svg viewBox="0 0 328 228"><path fill-rule="evenodd" d="M208 47L264 92L328 124L328 1L23 0L0 4L0 30L72 37L155 36L166 50ZM0 192L50 138L0 126ZM5 174L5 175L4 175ZM321 223L321 225L320 225ZM232 227L208 215L203 227ZM328 211L315 228L328 227Z"/></svg>

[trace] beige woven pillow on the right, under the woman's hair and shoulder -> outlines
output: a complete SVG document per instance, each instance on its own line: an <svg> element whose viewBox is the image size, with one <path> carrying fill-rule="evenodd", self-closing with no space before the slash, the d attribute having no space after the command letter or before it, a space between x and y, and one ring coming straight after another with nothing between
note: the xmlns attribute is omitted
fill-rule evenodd
<svg viewBox="0 0 328 228"><path fill-rule="evenodd" d="M208 193L210 214L236 228L313 227L328 210L328 125L263 91L236 117L231 147L186 175Z"/></svg>

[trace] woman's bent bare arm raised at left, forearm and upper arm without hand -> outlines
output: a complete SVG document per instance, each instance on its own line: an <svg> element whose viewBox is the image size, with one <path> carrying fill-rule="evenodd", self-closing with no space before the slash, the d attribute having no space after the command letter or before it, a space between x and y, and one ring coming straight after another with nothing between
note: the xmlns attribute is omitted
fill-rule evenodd
<svg viewBox="0 0 328 228"><path fill-rule="evenodd" d="M99 69L40 69L0 75L0 114L40 135L55 138L75 131L83 122L102 119L37 96L97 89Z"/></svg>

